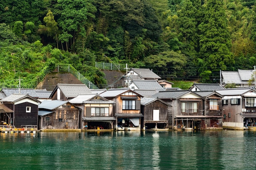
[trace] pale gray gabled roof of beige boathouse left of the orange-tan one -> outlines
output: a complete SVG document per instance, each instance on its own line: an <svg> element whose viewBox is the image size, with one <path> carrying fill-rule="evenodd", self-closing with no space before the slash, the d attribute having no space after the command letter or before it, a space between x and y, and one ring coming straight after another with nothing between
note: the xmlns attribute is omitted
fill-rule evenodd
<svg viewBox="0 0 256 170"><path fill-rule="evenodd" d="M81 94L77 97L70 99L70 103L74 104L83 104L83 103L90 103L90 104L113 104L113 101L105 99L104 97L98 94Z"/></svg>

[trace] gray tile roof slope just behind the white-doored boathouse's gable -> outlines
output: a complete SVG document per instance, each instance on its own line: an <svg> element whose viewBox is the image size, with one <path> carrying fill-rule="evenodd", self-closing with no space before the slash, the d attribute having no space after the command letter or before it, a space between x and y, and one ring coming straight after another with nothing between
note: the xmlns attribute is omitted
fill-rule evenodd
<svg viewBox="0 0 256 170"><path fill-rule="evenodd" d="M189 93L188 90L182 91L159 91L157 94L152 95L152 97L158 97L159 99L177 99L178 97Z"/></svg>

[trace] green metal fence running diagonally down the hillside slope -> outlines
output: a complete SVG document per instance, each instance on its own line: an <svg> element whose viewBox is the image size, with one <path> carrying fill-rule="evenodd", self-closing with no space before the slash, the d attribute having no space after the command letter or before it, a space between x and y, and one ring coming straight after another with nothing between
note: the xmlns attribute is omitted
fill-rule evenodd
<svg viewBox="0 0 256 170"><path fill-rule="evenodd" d="M92 82L90 82L87 78L85 78L82 74L80 74L76 68L74 68L70 64L58 64L58 72L69 72L72 75L74 75L77 79L79 79L83 84L88 86L88 88L91 89L99 89L96 85L94 85Z"/></svg>

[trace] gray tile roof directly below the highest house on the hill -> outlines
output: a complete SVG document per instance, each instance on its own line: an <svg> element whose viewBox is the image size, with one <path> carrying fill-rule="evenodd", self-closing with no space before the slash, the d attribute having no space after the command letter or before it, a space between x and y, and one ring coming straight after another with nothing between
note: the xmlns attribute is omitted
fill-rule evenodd
<svg viewBox="0 0 256 170"><path fill-rule="evenodd" d="M132 83L139 89L159 90L164 88L156 80L132 80Z"/></svg>

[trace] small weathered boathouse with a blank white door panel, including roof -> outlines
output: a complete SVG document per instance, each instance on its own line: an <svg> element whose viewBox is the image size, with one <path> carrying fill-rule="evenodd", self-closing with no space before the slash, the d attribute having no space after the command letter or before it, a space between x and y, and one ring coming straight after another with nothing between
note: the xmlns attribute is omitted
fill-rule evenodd
<svg viewBox="0 0 256 170"><path fill-rule="evenodd" d="M152 97L141 98L141 113L145 129L169 129L168 115L171 105L161 99Z"/></svg>

